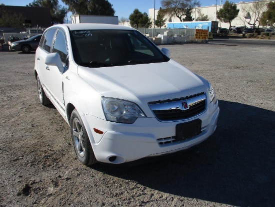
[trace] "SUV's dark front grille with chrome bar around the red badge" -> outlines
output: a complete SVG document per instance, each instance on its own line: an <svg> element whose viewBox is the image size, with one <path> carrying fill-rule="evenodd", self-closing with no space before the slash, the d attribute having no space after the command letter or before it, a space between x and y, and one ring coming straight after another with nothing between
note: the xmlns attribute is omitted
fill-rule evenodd
<svg viewBox="0 0 275 207"><path fill-rule="evenodd" d="M182 109L183 103L188 104L188 109ZM205 95L198 94L182 99L149 103L149 107L159 121L176 121L194 117L205 110Z"/></svg>

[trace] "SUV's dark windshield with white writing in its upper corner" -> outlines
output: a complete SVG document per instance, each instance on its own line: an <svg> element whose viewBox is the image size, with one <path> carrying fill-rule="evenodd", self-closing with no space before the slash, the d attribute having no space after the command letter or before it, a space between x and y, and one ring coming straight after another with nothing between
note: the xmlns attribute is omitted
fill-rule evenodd
<svg viewBox="0 0 275 207"><path fill-rule="evenodd" d="M85 67L166 62L148 38L132 30L71 31L73 58Z"/></svg>

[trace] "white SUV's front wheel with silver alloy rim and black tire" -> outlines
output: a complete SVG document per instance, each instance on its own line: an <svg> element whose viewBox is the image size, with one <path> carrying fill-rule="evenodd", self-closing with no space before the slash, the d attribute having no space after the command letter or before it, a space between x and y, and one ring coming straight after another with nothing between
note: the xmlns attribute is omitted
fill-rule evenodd
<svg viewBox="0 0 275 207"><path fill-rule="evenodd" d="M97 163L88 134L76 109L72 111L70 116L70 133L78 160L86 166Z"/></svg>

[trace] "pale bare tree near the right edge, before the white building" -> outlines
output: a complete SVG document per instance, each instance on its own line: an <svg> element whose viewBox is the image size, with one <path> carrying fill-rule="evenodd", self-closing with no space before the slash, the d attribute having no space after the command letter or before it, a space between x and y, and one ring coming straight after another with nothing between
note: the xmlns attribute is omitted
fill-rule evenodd
<svg viewBox="0 0 275 207"><path fill-rule="evenodd" d="M254 1L252 4L245 4L241 6L241 12L244 14L244 24L252 26L253 28L259 27L259 19L263 12L267 10L267 3L263 1Z"/></svg>

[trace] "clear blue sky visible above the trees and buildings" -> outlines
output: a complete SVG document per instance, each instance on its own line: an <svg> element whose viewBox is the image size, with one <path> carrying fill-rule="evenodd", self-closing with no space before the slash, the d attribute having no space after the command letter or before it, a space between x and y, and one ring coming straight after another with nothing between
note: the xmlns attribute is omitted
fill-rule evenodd
<svg viewBox="0 0 275 207"><path fill-rule="evenodd" d="M112 8L115 11L115 16L118 16L118 19L121 17L124 18L129 18L129 15L133 12L134 9L138 9L141 13L147 13L148 14L148 9L154 8L154 1L155 1L155 9L159 9L161 7L161 0L108 0L110 4L112 4ZM251 2L249 1L243 1L243 0L230 0L229 2L233 3L239 3L239 1L242 2ZM26 6L29 3L32 3L33 1L31 0L0 0L0 4L4 4L6 6ZM225 0L221 1L220 0L200 0L200 6L205 7L205 6L211 6L211 5L220 5L225 2ZM59 4L64 6L61 0L59 0ZM69 16L71 15L68 14L68 19Z"/></svg>

